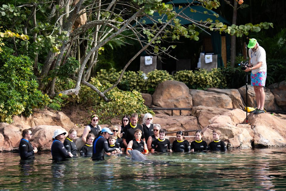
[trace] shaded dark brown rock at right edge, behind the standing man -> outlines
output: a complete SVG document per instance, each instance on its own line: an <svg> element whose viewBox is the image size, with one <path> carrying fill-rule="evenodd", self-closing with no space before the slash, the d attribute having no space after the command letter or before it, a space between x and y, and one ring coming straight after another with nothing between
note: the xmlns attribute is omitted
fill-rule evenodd
<svg viewBox="0 0 286 191"><path fill-rule="evenodd" d="M286 82L271 84L268 88L274 94L277 105L286 110Z"/></svg>

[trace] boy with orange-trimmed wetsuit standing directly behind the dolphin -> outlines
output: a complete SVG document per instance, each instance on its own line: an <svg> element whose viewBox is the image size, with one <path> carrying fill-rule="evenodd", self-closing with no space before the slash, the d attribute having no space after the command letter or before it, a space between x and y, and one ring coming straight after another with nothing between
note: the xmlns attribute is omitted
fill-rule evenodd
<svg viewBox="0 0 286 191"><path fill-rule="evenodd" d="M134 139L129 141L126 149L126 154L128 153L128 150L139 150L141 153L148 153L147 144L145 141L141 139L142 131L140 129L136 129L134 131Z"/></svg>

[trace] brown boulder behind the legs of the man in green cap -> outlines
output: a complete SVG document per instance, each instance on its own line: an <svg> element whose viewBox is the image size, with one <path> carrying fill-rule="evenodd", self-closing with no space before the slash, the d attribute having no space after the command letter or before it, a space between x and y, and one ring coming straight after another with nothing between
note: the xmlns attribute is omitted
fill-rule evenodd
<svg viewBox="0 0 286 191"><path fill-rule="evenodd" d="M246 86L238 88L238 91L240 92L241 96L243 97L244 102L246 103ZM275 96L274 94L268 89L267 87L264 87L265 92L265 103L264 108L266 110L279 110L280 108L275 102ZM257 107L256 99L255 99L255 92L254 87L251 85L248 85L248 96L247 96L247 102L249 107ZM285 94L285 92L283 93Z"/></svg>

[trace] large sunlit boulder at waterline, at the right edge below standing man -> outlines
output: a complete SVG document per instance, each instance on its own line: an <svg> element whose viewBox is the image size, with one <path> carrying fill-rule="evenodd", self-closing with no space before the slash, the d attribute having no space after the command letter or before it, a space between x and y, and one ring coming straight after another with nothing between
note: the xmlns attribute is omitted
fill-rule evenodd
<svg viewBox="0 0 286 191"><path fill-rule="evenodd" d="M254 131L254 147L285 147L285 119L269 113L250 114L248 121Z"/></svg>

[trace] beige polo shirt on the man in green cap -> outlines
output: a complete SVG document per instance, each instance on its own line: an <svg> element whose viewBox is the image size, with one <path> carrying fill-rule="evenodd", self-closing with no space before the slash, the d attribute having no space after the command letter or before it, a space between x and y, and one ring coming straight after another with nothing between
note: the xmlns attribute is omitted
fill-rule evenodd
<svg viewBox="0 0 286 191"><path fill-rule="evenodd" d="M252 51L250 48L248 50L248 55L251 60L251 65L255 66L258 62L262 62L261 67L252 70L252 74L256 74L257 72L266 72L267 66L266 66L266 53L264 48L261 46L257 47L255 51Z"/></svg>

